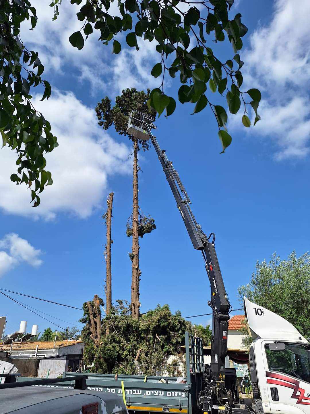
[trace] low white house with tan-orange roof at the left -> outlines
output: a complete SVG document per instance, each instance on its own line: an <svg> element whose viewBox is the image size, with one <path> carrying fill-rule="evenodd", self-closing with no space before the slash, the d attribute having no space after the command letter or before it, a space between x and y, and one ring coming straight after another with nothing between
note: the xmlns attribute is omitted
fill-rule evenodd
<svg viewBox="0 0 310 414"><path fill-rule="evenodd" d="M9 352L11 357L46 358L64 354L83 354L84 342L81 340L69 341L33 341L12 342L12 344L1 344L2 351Z"/></svg>

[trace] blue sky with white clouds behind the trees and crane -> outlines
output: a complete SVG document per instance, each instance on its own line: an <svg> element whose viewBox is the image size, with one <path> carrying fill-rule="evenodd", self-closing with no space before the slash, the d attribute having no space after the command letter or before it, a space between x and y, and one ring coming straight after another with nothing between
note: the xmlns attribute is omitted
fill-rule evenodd
<svg viewBox="0 0 310 414"><path fill-rule="evenodd" d="M50 120L60 146L46 157L54 184L44 190L36 209L29 206L26 188L10 182L14 154L7 148L0 152L0 287L77 307L94 294L104 296L105 226L100 216L113 191L112 300L129 300L131 240L125 228L132 206L130 142L113 129L101 130L93 108L124 87L158 86L160 81L150 76L157 52L142 43L138 52L124 47L115 56L96 35L77 51L68 41L79 29L74 7L63 2L59 19L52 22L48 2L33 3L38 24L33 31L24 27L22 39L39 51L52 84L50 99L41 103L41 96L35 96L35 106ZM225 154L219 154L210 111L192 116L191 104L177 103L171 117L156 121L157 139L179 171L197 221L205 233L216 233L234 308L240 307L237 287L249 281L257 260L268 260L274 251L284 259L294 249L297 255L309 250L310 29L305 10L310 12L307 0L294 9L289 0L241 0L231 9L232 16L241 12L249 29L241 53L245 88L260 87L263 98L262 120L255 128L243 128L239 116L229 118L233 142ZM231 46L222 46L218 53L233 57ZM176 97L178 86L172 79L165 92ZM169 303L184 316L208 313L210 286L203 260L193 250L153 148L139 154L139 164L139 204L157 226L140 243L141 311ZM12 296L80 325L78 310ZM40 331L52 327L5 297L0 315L7 315L6 332L18 329L20 320L27 320L29 328L38 324ZM210 317L193 321L210 323Z"/></svg>

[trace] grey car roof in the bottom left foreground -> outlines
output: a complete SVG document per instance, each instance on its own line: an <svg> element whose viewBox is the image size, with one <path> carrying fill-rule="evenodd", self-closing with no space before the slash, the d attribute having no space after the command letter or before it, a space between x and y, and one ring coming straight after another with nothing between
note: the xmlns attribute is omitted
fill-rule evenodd
<svg viewBox="0 0 310 414"><path fill-rule="evenodd" d="M19 409L31 407L42 402L80 394L92 395L98 397L100 400L103 400L105 402L105 410L107 414L112 414L120 410L124 410L126 412L122 399L117 395L110 394L109 392L74 390L72 388L61 387L29 386L0 389L0 414L6 414ZM62 402L60 402L60 404L62 404ZM30 409L29 413L31 413Z"/></svg>

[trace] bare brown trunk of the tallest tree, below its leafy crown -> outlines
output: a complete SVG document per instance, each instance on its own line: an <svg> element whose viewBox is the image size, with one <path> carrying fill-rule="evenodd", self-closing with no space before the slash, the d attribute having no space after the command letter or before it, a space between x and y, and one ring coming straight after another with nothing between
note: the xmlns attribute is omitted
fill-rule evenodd
<svg viewBox="0 0 310 414"><path fill-rule="evenodd" d="M138 319L139 308L139 237L138 237L138 140L134 139L134 211L132 216L132 279L131 279L131 315Z"/></svg>

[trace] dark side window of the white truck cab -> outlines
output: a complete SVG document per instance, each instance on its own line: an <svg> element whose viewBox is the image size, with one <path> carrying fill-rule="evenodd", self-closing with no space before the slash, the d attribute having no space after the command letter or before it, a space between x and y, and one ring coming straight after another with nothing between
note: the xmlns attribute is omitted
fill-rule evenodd
<svg viewBox="0 0 310 414"><path fill-rule="evenodd" d="M265 345L270 371L283 372L310 383L310 352L303 345L285 343L285 349L271 350Z"/></svg>

